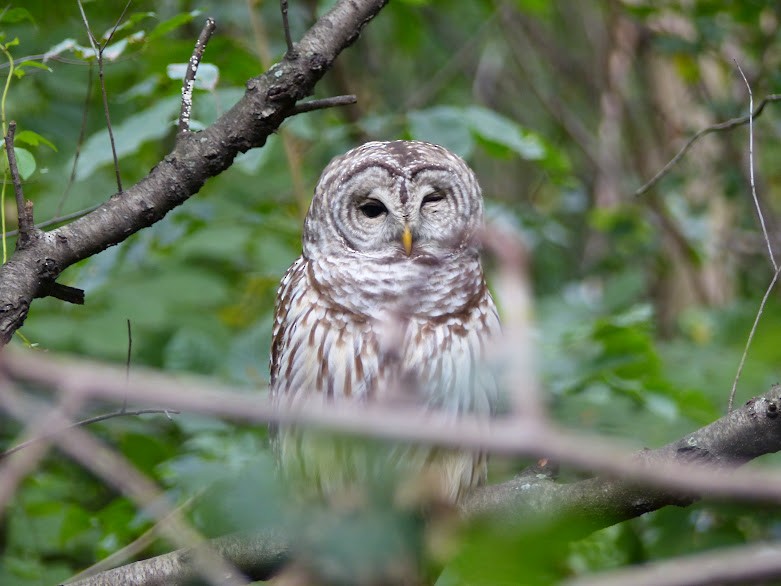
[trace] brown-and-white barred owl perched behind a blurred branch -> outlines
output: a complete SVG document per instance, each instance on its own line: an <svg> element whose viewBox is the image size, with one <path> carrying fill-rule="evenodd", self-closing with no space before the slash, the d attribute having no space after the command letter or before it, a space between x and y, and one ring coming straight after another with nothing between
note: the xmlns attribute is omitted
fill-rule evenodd
<svg viewBox="0 0 781 586"><path fill-rule="evenodd" d="M475 174L441 146L369 142L332 160L277 293L272 400L402 400L490 417L497 387L485 362L500 326L480 264L482 220ZM486 475L481 453L397 445L358 456L294 427L273 443L283 471L321 492L395 467L456 502Z"/></svg>

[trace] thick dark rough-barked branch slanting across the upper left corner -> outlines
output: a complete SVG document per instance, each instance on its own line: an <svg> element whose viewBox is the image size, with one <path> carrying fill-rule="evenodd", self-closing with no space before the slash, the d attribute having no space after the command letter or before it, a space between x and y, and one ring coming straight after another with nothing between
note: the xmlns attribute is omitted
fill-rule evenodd
<svg viewBox="0 0 781 586"><path fill-rule="evenodd" d="M250 79L244 97L213 125L182 135L174 150L144 179L94 212L43 233L0 267L0 345L27 317L45 283L65 268L151 226L230 167L239 153L263 146L296 102L310 95L337 55L360 34L387 0L341 0L265 74Z"/></svg>

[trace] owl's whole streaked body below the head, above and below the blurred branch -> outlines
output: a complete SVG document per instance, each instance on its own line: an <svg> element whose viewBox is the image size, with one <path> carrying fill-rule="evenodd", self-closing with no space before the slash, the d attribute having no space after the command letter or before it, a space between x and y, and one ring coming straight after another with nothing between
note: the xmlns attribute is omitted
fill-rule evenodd
<svg viewBox="0 0 781 586"><path fill-rule="evenodd" d="M374 268L352 271L363 275L360 283L354 277L339 283L337 268L322 265L299 258L280 285L271 357L275 403L402 403L453 415L492 414L497 388L488 362L500 326L478 259L447 275L426 263L411 270L427 274L424 281L388 279ZM327 291L344 289L339 302L326 293L324 274ZM435 290L447 300L421 302ZM334 446L295 428L279 430L274 440L283 470L295 470L326 494L404 462L404 474L425 472L438 483L437 498L456 502L486 475L482 453L394 446L367 456Z"/></svg>

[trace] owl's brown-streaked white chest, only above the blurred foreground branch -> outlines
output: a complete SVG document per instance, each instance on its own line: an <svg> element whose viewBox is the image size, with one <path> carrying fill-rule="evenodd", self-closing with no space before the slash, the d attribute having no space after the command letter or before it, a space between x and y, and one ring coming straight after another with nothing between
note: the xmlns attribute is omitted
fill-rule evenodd
<svg viewBox="0 0 781 586"><path fill-rule="evenodd" d="M277 300L274 400L401 400L489 413L496 389L487 341L499 322L479 261L472 264L448 274L352 270L342 280L333 263L296 261Z"/></svg>

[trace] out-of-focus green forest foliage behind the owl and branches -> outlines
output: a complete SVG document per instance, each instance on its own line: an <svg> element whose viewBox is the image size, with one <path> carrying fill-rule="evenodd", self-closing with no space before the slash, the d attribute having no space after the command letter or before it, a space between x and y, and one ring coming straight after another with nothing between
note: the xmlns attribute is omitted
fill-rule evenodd
<svg viewBox="0 0 781 586"><path fill-rule="evenodd" d="M331 4L291 2L294 38ZM84 2L97 35L123 7ZM284 52L273 1L133 2L105 66L125 186L172 148L181 82L176 68L172 76L167 71L187 61L206 16L218 28L201 70L194 128L215 120L248 78ZM366 140L423 139L464 156L481 180L488 217L524 236L539 368L556 420L637 447L673 441L724 413L772 277L751 201L748 128L705 137L655 187L634 192L694 132L748 111L736 61L757 101L777 91L779 19L781 8L770 0L396 0L317 87L316 97L354 93L356 106L287 121L263 149L239 157L163 221L68 269L61 281L85 289L86 304L37 300L21 333L40 348L122 364L130 320L134 365L257 392L268 377L276 286L300 252L320 170ZM114 170L76 3L12 3L0 25L0 76L9 73L9 56L22 72L9 78L6 120L56 147L18 145L29 153L24 189L36 220L105 201L116 191ZM85 98L84 140L69 185ZM780 128L771 104L754 129L757 190L776 247ZM5 211L11 230L8 188ZM778 379L780 316L771 295L739 402ZM24 342L17 336L14 343ZM13 445L19 429L0 417L2 445ZM186 414L113 419L91 429L174 502L199 495L188 510L207 535L289 521L274 504L281 497L270 479L265 430ZM513 467L500 463L495 479ZM378 550L387 543L364 538L372 523L398 522L401 534L416 530L383 514L389 517L335 530ZM557 540L555 527L512 535L480 528L465 536L464 553L442 580L551 583L776 537L779 520L776 511L706 503L648 514L575 544ZM0 583L63 580L151 525L53 452L0 520ZM154 541L142 555L169 547Z"/></svg>

